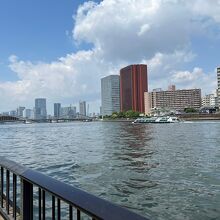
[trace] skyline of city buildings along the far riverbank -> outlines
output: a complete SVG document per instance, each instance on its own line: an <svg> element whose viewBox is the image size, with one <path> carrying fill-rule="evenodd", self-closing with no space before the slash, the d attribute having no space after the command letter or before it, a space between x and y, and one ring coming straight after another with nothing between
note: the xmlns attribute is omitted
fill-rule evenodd
<svg viewBox="0 0 220 220"><path fill-rule="evenodd" d="M145 114L147 115L151 112L151 109L154 109L157 105L158 106L156 108L163 108L164 106L166 106L171 107L172 109L177 104L176 106L178 106L178 108L182 108L182 110L186 106L196 109L199 109L200 107L219 107L219 73L220 67L216 69L216 81L218 83L218 88L213 94L206 94L202 96L201 88L184 88L176 90L176 85L169 85L168 90L155 88L150 92L148 91L147 65L132 64L123 67L120 70L120 75L109 75L101 78L101 106L100 112L97 113L97 115L111 115L113 112L125 112L128 110L140 113L145 112ZM195 100L197 100L195 101L195 103L194 101L191 103L191 101L188 99L189 97L185 96L186 91L189 92L187 96L191 97L192 99L195 98ZM196 96L194 96L195 91L197 91ZM160 100L159 98L157 102L162 103L162 105L158 103L156 104L151 100L151 94L155 94L155 92L158 94L161 93L163 95L167 93L168 96L171 95L170 92L172 93L172 95L173 92L175 92L179 94L179 97L173 97L173 101L170 100L171 96L169 98L163 97L162 100ZM181 97L183 98L183 100L181 99ZM154 97L153 99L155 98L156 97ZM175 100L175 98L178 98L178 101ZM168 102L164 102L165 99L167 99ZM38 105L39 107L37 107ZM43 108L43 110L41 108ZM44 112L43 114L42 111ZM90 115L89 104L86 108L86 101L79 101L79 112L77 112L76 106L72 106L72 104L70 104L69 107L61 107L61 103L54 103L53 115L47 114L46 98L35 98L35 107L33 109L28 109L24 106L18 106L16 110L0 112L0 115L1 114L17 116L19 118L25 117L35 119L46 119L47 117L51 116L55 118L72 118L76 117L77 115ZM96 115L96 113L93 112L93 115Z"/></svg>

